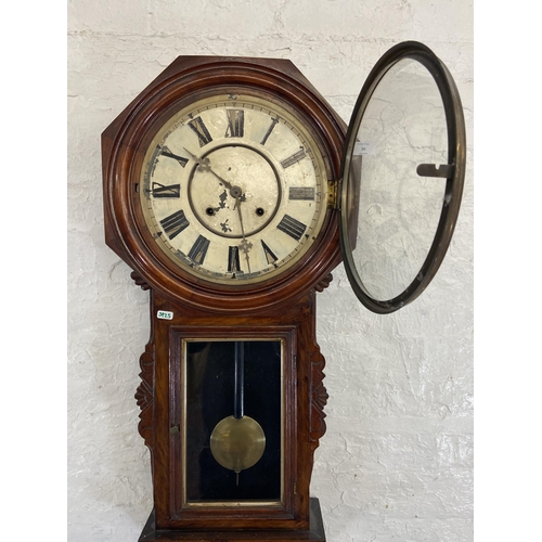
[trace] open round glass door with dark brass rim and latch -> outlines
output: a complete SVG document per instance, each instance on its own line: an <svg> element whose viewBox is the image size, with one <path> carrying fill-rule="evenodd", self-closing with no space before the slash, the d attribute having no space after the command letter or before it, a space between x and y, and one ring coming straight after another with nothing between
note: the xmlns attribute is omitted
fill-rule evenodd
<svg viewBox="0 0 542 542"><path fill-rule="evenodd" d="M361 90L343 157L343 260L366 308L393 312L430 283L452 238L464 176L455 83L427 47L399 43Z"/></svg>

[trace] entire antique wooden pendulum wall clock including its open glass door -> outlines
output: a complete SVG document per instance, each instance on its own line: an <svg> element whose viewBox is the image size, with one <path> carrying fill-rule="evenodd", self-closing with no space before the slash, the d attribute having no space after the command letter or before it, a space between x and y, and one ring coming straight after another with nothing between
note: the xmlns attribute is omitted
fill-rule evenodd
<svg viewBox="0 0 542 542"><path fill-rule="evenodd" d="M141 541L325 540L315 294L344 261L378 313L415 299L457 218L461 102L425 46L389 50L347 127L289 62L181 56L102 136L107 245L151 293Z"/></svg>

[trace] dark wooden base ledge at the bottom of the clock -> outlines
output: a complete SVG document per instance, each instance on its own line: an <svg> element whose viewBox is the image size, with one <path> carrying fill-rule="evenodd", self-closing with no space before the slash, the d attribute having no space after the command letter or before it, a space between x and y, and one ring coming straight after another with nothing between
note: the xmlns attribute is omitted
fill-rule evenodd
<svg viewBox="0 0 542 542"><path fill-rule="evenodd" d="M310 529L302 530L243 530L243 531L182 531L171 529L155 529L154 511L149 516L146 525L141 532L139 542L172 542L186 540L191 542L245 542L258 540L259 542L325 542L324 524L320 512L318 499L310 500Z"/></svg>

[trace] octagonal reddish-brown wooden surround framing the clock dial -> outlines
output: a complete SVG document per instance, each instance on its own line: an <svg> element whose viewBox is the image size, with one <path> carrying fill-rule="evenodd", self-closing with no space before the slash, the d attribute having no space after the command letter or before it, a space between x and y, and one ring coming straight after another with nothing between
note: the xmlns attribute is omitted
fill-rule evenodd
<svg viewBox="0 0 542 542"><path fill-rule="evenodd" d="M103 168L106 242L153 288L194 307L219 312L271 308L315 286L340 261L336 209L327 205L317 240L283 273L254 284L222 285L176 266L152 246L139 214L146 145L177 111L202 98L250 94L293 111L317 142L328 189L336 191L346 125L289 61L178 57L104 131ZM152 241L152 243L151 243Z"/></svg>

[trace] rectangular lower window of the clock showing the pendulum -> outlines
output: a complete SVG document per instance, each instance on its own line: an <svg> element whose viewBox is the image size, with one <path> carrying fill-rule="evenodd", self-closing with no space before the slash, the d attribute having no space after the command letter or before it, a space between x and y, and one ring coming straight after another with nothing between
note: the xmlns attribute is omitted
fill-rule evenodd
<svg viewBox="0 0 542 542"><path fill-rule="evenodd" d="M280 502L282 340L190 340L184 351L185 501Z"/></svg>

